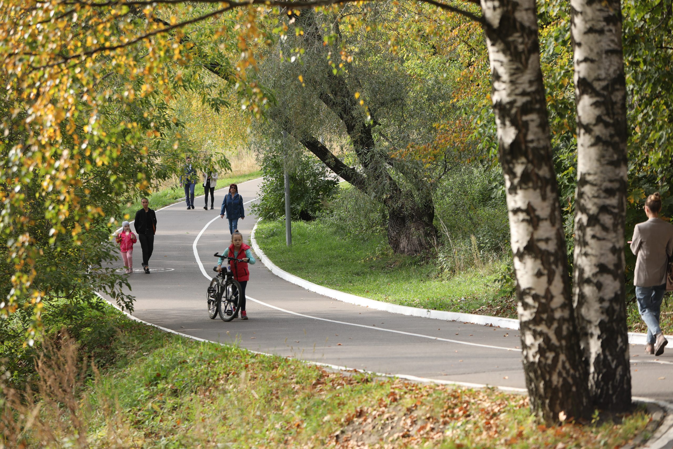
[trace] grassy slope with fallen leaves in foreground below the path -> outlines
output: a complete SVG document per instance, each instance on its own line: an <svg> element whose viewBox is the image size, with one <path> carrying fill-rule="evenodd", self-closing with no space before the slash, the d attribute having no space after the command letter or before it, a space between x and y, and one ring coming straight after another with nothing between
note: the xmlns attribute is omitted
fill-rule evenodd
<svg viewBox="0 0 673 449"><path fill-rule="evenodd" d="M621 425L546 428L534 422L525 396L326 372L293 359L163 333L110 306L98 311L82 306L76 316L61 324L77 336L80 356L94 354L100 372L79 387L76 401L59 402L73 405L82 424L72 425L68 408L51 407L43 394L41 419L33 422L26 447L70 447L81 434L92 448L347 448L381 438L390 448L425 443L532 448L561 442L598 448L624 444L649 421L639 411ZM225 331L226 324L222 327ZM59 335L61 353L73 348ZM30 409L23 413L25 419ZM11 416L0 414L0 428ZM3 431L0 438L9 443L11 437ZM57 446L48 444L55 440Z"/></svg>

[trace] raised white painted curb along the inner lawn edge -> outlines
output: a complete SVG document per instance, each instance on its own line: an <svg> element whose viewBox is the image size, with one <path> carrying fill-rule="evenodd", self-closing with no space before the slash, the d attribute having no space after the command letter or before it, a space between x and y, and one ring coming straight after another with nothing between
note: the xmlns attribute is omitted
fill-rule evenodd
<svg viewBox="0 0 673 449"><path fill-rule="evenodd" d="M390 304L389 302L382 302L377 300L370 300L369 298L363 298L362 296L351 295L351 293L345 293L343 291L331 289L329 287L323 287L316 283L302 279L301 277L287 273L287 271L279 268L275 263L271 262L269 256L264 254L264 251L257 244L257 240L254 237L255 231L257 230L257 224L262 219L258 219L252 228L250 233L250 242L252 243L252 249L259 256L259 260L264 264L264 267L267 267L271 270L271 273L277 275L285 281L291 282L299 287L304 287L309 291L315 291L316 293L327 296L337 301L347 302L349 304L355 304L357 306L369 307L376 310L384 310L386 312L402 314L407 316L420 316L421 318L433 318L435 320L444 320L444 321L462 321L469 322L472 324L483 324L484 326L500 326L505 329L519 329L519 320L513 318L502 318L500 316L488 316L488 315L476 315L476 314L465 314L460 312L447 312L446 310L431 310L423 309L418 307L409 307L409 306L400 306L398 304ZM672 337L668 337L671 339ZM645 345L646 335L643 333L629 332L629 343L632 345Z"/></svg>

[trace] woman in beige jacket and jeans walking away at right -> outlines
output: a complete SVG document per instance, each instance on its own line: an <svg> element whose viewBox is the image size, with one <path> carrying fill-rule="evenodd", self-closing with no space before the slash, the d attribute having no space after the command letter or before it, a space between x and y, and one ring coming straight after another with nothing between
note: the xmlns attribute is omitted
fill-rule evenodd
<svg viewBox="0 0 673 449"><path fill-rule="evenodd" d="M673 225L659 218L662 198L653 193L645 201L647 221L633 230L631 251L637 256L633 284L638 312L647 324L645 353L662 355L668 340L659 326L662 299L666 293L666 265L673 254Z"/></svg>

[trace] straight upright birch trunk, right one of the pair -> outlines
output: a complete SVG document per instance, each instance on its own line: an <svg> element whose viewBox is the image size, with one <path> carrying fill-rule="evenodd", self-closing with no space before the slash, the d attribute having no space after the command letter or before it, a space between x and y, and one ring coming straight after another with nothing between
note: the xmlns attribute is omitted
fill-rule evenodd
<svg viewBox="0 0 673 449"><path fill-rule="evenodd" d="M624 285L627 111L620 0L571 0L577 197L573 302L596 407L631 407Z"/></svg>

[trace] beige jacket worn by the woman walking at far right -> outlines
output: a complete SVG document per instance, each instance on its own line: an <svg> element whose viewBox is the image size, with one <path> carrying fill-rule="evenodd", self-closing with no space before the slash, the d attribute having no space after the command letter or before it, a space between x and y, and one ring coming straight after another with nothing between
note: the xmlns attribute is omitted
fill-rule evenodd
<svg viewBox="0 0 673 449"><path fill-rule="evenodd" d="M660 218L650 218L635 226L632 240L631 251L638 256L633 285L664 285L668 256L673 254L673 225Z"/></svg>

